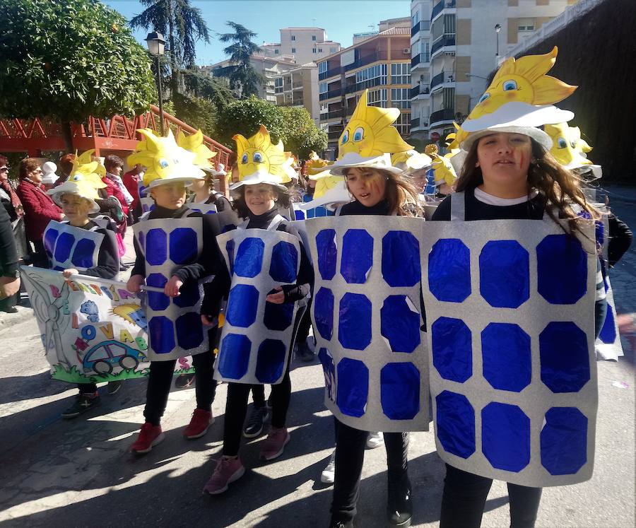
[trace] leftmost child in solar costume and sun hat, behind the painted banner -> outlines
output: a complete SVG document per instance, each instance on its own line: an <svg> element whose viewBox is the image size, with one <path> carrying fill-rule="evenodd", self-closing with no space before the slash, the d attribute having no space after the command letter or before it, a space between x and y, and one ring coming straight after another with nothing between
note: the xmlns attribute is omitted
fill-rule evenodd
<svg viewBox="0 0 636 528"><path fill-rule="evenodd" d="M47 194L58 204L66 220L50 221L44 233L45 251L52 269L61 271L66 278L82 274L100 278L115 278L119 272L119 254L114 225L110 218L89 214L98 213L100 206L97 187L105 186L95 174L98 163L79 165L74 162L73 172L63 184ZM109 392L115 392L121 382L110 382ZM79 394L62 418L75 418L100 404L95 383L78 384Z"/></svg>

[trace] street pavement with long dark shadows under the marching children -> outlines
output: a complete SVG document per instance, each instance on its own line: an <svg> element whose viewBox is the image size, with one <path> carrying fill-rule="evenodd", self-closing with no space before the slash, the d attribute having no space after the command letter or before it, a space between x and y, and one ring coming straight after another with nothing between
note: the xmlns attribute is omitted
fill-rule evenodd
<svg viewBox="0 0 636 528"><path fill-rule="evenodd" d="M636 189L610 188L611 205L636 226ZM543 491L537 527L635 526L636 251L611 274L625 358L598 363L599 414L594 476ZM26 312L24 312L27 310ZM0 526L4 527L326 527L331 486L319 481L334 447L333 418L323 404L317 361L294 360L288 414L291 441L273 462L258 459L264 435L244 441L245 476L224 495L201 494L220 456L227 385L213 404L216 421L199 440L181 430L195 407L194 389L173 389L163 418L166 438L143 457L128 447L143 423L146 381L129 380L102 406L71 421L59 418L77 389L49 379L35 319L0 321ZM249 410L248 410L249 412ZM356 527L383 527L386 454L365 455ZM409 447L413 526L439 524L444 464L432 433ZM483 527L510 524L505 483L495 482Z"/></svg>

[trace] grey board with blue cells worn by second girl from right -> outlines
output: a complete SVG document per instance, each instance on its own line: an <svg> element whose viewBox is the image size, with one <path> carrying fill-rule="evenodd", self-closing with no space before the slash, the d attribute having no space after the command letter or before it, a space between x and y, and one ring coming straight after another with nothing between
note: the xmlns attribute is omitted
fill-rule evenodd
<svg viewBox="0 0 636 528"><path fill-rule="evenodd" d="M315 269L312 320L325 404L339 421L360 430L428 430L416 236L422 223L399 216L333 216L305 223Z"/></svg>

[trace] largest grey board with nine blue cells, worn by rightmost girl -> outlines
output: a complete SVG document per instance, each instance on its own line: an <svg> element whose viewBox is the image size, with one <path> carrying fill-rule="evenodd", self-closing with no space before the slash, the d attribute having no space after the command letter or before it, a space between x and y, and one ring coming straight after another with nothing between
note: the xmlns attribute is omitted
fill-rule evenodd
<svg viewBox="0 0 636 528"><path fill-rule="evenodd" d="M422 289L435 442L473 474L522 486L594 467L594 225L425 222Z"/></svg>

